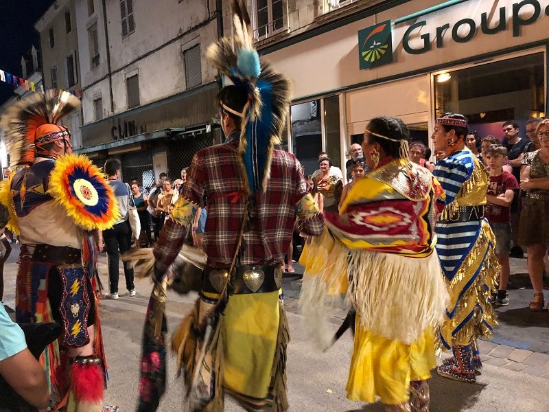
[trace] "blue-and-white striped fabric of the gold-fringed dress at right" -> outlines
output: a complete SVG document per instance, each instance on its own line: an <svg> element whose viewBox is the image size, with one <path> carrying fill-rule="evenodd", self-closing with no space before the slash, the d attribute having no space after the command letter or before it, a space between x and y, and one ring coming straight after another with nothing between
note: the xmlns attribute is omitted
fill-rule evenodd
<svg viewBox="0 0 549 412"><path fill-rule="evenodd" d="M473 173L473 153L469 150L454 152L436 163L434 176L446 194L445 205L452 203L461 186ZM467 258L480 232L480 221L436 223L436 252L447 279L451 280Z"/></svg>

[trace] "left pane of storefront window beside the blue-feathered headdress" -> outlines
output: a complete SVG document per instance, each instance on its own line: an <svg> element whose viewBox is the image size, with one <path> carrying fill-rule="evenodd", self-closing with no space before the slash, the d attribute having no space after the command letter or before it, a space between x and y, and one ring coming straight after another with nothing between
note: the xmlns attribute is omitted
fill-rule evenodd
<svg viewBox="0 0 549 412"><path fill-rule="evenodd" d="M294 155L305 166L305 174L318 169L318 153L322 152L320 100L294 104L291 108Z"/></svg>

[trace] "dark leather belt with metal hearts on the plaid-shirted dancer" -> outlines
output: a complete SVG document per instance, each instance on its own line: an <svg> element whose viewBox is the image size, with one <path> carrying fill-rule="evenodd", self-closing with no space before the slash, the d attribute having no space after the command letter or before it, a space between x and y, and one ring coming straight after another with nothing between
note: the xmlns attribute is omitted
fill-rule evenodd
<svg viewBox="0 0 549 412"><path fill-rule="evenodd" d="M224 268L206 266L202 278L202 291L221 293L226 280L230 295L246 293L269 293L279 290L282 283L282 269L277 266L237 266L233 274Z"/></svg>

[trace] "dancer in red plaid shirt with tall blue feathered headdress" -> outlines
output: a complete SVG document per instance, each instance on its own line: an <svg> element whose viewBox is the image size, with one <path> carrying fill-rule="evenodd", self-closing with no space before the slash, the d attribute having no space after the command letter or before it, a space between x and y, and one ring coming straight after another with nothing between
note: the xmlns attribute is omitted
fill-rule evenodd
<svg viewBox="0 0 549 412"><path fill-rule="evenodd" d="M139 411L156 409L164 391L165 273L203 198L208 208L203 240L207 262L197 277L200 298L172 339L190 410L222 411L225 393L247 411L288 408L289 336L280 299L281 263L296 209L297 225L306 233L320 234L323 219L307 194L299 161L274 148L288 111L288 80L260 64L244 1L233 1L233 13L235 36L208 50L233 83L218 94L226 143L194 156L152 251L154 260L143 249L141 259L130 257L138 263L135 272L154 272L155 282L143 334ZM184 281L179 281L177 267L172 272L174 285L192 283L189 271L183 273Z"/></svg>

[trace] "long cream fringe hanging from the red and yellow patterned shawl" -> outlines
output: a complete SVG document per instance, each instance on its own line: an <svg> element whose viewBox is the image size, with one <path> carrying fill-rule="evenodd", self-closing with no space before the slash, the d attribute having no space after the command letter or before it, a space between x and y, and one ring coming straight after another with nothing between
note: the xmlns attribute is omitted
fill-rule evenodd
<svg viewBox="0 0 549 412"><path fill-rule="evenodd" d="M325 265L320 270L318 262L307 265L300 298L312 337L323 349L334 336L327 328L328 312L342 301L356 310L366 330L406 344L417 341L429 325L436 327L443 321L449 296L436 251L427 258L406 258L349 251L334 239L327 247L328 239L325 233L309 245L310 255ZM323 253L315 253L321 249ZM347 295L334 295L344 275L349 283Z"/></svg>

